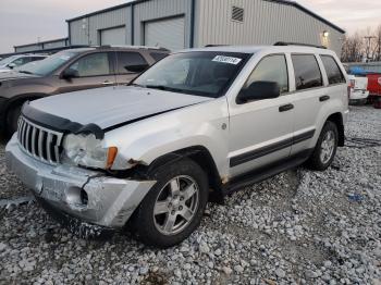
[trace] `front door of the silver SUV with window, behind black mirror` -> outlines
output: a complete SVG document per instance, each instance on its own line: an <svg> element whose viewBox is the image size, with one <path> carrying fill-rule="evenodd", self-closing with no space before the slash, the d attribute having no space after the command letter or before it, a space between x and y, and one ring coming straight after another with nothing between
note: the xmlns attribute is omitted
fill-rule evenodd
<svg viewBox="0 0 381 285"><path fill-rule="evenodd" d="M275 82L281 96L230 104L230 175L236 176L287 158L293 138L293 108L288 98L284 54L265 57L243 88L251 83Z"/></svg>

